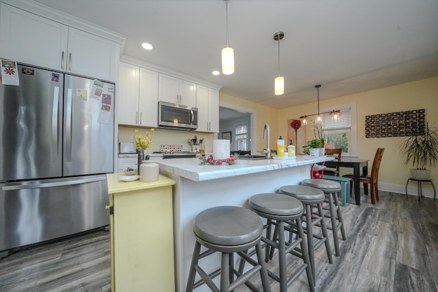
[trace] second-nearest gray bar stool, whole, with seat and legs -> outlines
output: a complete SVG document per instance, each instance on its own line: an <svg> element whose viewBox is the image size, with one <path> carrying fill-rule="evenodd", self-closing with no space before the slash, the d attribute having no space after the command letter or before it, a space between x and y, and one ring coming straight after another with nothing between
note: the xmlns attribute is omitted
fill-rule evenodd
<svg viewBox="0 0 438 292"><path fill-rule="evenodd" d="M313 274L309 261L309 254L307 251L306 243L304 241L304 232L302 231L301 216L303 212L303 206L298 199L289 197L287 195L281 195L278 193L261 193L250 197L250 208L256 212L259 216L268 219L266 227L266 236L261 237L261 241L266 243L266 255L268 255L268 247L279 250L279 276L272 273L268 269L268 275L280 283L280 291L286 292L287 286L292 284L294 280L300 276L300 274L306 270L307 280L311 291L315 291L315 282L313 281ZM270 224L275 221L276 232L272 240L270 239ZM285 241L285 223L291 224L298 234L295 241L288 243ZM289 228L289 231L293 231ZM300 250L297 250L300 245ZM286 269L286 254L292 254L299 258L302 258L303 263L292 275L287 276ZM268 260L268 258L266 258Z"/></svg>

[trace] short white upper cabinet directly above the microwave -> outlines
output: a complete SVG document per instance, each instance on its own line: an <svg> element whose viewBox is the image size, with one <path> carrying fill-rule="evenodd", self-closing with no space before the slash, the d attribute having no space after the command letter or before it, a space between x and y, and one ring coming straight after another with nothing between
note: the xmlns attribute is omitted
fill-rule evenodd
<svg viewBox="0 0 438 292"><path fill-rule="evenodd" d="M196 84L166 74L159 74L159 101L196 106Z"/></svg>

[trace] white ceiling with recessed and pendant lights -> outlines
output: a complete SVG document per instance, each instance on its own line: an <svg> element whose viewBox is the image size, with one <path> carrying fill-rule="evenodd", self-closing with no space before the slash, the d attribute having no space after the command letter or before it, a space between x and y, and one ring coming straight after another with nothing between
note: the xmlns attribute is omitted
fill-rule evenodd
<svg viewBox="0 0 438 292"><path fill-rule="evenodd" d="M437 0L229 0L235 73L219 76L224 0L35 1L124 34L128 56L272 108L316 101L316 84L326 99L438 75ZM285 94L275 96L279 31Z"/></svg>

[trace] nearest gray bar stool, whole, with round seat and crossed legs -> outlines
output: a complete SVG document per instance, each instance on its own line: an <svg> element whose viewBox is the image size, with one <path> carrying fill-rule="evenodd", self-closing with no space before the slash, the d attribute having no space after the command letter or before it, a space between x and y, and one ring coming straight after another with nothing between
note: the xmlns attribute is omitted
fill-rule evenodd
<svg viewBox="0 0 438 292"><path fill-rule="evenodd" d="M261 276L263 291L271 291L260 241L263 233L263 223L255 212L235 206L209 208L196 216L193 232L196 242L186 292L193 291L194 288L202 284L207 284L212 291L233 291L242 284L246 284L252 291L259 291L248 281L258 272ZM201 245L207 247L205 252L201 253ZM246 253L251 247L255 247L257 261L250 258ZM220 269L207 274L198 265L198 261L216 252L221 253ZM234 253L253 265L253 267L243 274L237 271L234 268ZM201 280L194 283L196 272ZM213 278L219 275L220 289L213 282ZM237 276L236 279L234 279L235 275Z"/></svg>

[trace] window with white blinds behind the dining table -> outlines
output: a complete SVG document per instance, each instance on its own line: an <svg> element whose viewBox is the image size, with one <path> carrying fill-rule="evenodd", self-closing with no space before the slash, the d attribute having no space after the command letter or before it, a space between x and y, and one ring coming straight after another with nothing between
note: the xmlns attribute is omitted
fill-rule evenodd
<svg viewBox="0 0 438 292"><path fill-rule="evenodd" d="M341 116L338 121L333 121L331 114L322 114L322 130L326 143L333 143L333 147L342 148L342 154L345 156L357 155L356 104L339 105L325 108L323 111L331 110L340 110Z"/></svg>

